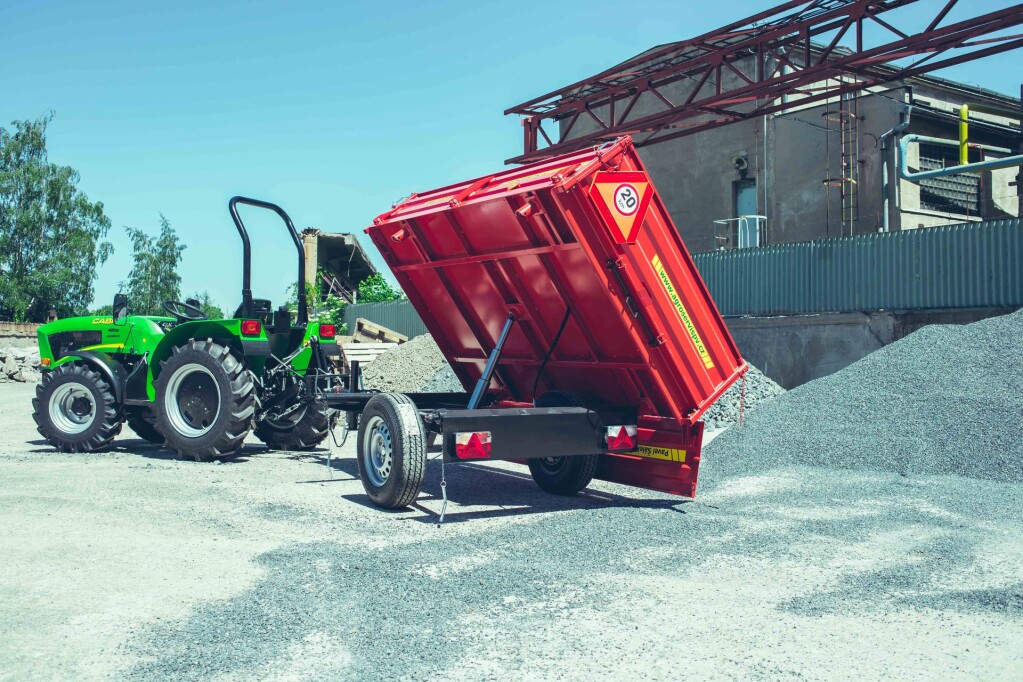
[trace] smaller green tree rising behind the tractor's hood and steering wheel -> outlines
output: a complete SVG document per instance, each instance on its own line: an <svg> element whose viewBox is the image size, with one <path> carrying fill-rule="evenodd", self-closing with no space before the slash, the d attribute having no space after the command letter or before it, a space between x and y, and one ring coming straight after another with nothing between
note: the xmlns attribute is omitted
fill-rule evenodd
<svg viewBox="0 0 1023 682"><path fill-rule="evenodd" d="M149 236L142 230L126 227L131 239L134 265L128 275L128 301L135 315L162 314L165 301L181 300L181 276L178 264L184 244L164 214L160 214L160 234Z"/></svg>

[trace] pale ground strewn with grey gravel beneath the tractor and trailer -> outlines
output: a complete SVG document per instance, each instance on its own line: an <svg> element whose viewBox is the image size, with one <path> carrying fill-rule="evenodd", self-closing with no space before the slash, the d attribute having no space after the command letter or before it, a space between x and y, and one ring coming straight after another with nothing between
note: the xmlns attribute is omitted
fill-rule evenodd
<svg viewBox="0 0 1023 682"><path fill-rule="evenodd" d="M0 385L0 680L1023 678L1021 486L707 458L696 501L562 499L465 465L437 528L436 463L385 512L354 439L64 455L32 392Z"/></svg>

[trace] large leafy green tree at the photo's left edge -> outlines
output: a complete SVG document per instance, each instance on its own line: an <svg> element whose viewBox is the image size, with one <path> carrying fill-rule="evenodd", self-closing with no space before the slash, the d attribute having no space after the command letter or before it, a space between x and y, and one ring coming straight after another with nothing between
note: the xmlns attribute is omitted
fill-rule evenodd
<svg viewBox="0 0 1023 682"><path fill-rule="evenodd" d="M0 319L43 322L84 312L96 269L113 253L103 204L75 169L49 162L49 113L0 128Z"/></svg>

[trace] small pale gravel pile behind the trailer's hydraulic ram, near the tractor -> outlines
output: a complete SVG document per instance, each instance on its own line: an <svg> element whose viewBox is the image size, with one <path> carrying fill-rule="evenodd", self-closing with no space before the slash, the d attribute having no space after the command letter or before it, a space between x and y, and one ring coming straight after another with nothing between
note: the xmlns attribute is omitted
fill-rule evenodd
<svg viewBox="0 0 1023 682"><path fill-rule="evenodd" d="M441 385L443 378L435 378L442 370L451 372L447 360L434 343L430 334L416 336L373 360L362 373L362 382L367 389L388 391L392 393L424 393L435 389L427 389L428 384ZM451 377L454 374L451 372ZM454 380L456 389L436 389L442 391L461 391L461 385Z"/></svg>

